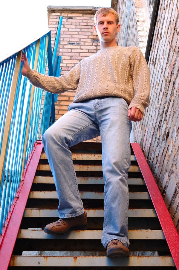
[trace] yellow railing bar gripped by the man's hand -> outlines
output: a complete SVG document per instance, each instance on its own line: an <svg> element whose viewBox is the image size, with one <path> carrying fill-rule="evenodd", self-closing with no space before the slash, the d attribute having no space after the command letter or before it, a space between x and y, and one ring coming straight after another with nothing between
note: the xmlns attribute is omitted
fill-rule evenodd
<svg viewBox="0 0 179 270"><path fill-rule="evenodd" d="M5 156L6 156L7 142L8 142L9 132L10 132L10 124L11 124L14 100L15 100L15 95L16 95L16 88L17 88L18 77L19 77L21 57L22 57L22 50L18 52L17 57L16 57L16 64L14 67L13 80L12 80L12 85L10 89L9 103L7 107L8 113L7 113L5 125L4 125L4 133L3 133L1 156L0 156L0 182L4 181L4 179L2 179L2 173L4 169L4 161L5 161Z"/></svg>

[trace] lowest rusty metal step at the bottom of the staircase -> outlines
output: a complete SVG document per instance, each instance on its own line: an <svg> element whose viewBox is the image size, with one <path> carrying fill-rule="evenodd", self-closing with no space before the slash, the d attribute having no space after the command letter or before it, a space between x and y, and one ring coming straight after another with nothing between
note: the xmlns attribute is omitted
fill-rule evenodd
<svg viewBox="0 0 179 270"><path fill-rule="evenodd" d="M10 266L46 267L172 267L171 256L130 256L107 258L106 256L12 256ZM143 268L142 268L143 269Z"/></svg>

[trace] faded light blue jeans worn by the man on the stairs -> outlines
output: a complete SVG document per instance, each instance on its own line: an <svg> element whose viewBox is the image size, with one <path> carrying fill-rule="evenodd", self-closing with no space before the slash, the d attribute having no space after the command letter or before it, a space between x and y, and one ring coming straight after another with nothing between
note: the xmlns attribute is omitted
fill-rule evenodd
<svg viewBox="0 0 179 270"><path fill-rule="evenodd" d="M59 198L59 217L84 213L69 147L101 135L104 176L104 225L102 244L112 239L129 246L128 173L130 131L128 104L123 98L102 97L71 103L42 137Z"/></svg>

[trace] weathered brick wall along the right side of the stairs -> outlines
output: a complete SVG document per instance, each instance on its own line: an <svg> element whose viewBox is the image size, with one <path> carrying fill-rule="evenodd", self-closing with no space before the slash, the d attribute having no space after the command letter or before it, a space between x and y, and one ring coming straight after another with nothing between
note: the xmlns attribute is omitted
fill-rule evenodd
<svg viewBox="0 0 179 270"><path fill-rule="evenodd" d="M118 42L136 45L145 53L148 22L146 3L131 1L133 15L127 22L129 1L118 1L123 11ZM147 2L147 1L146 1ZM135 7L134 7L135 6ZM179 4L177 0L160 1L157 24L149 59L151 96L143 120L134 124L134 141L140 146L160 188L176 228L179 231ZM135 19L136 18L136 22ZM144 26L144 27L143 27ZM136 30L137 29L137 30Z"/></svg>

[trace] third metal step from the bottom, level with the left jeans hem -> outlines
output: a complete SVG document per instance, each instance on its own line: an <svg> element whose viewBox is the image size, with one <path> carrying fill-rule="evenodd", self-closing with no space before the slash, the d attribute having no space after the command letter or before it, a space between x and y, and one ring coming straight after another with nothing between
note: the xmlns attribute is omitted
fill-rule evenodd
<svg viewBox="0 0 179 270"><path fill-rule="evenodd" d="M103 209L85 209L87 217L104 217ZM57 217L57 209L26 208L24 217ZM157 217L153 209L128 209L128 217Z"/></svg>

